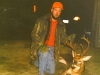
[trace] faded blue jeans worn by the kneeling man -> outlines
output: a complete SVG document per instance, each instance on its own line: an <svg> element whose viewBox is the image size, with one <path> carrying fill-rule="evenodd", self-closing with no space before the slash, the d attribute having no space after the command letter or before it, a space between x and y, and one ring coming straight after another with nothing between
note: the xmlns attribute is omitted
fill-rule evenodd
<svg viewBox="0 0 100 75"><path fill-rule="evenodd" d="M35 61L35 65L39 67L39 74L44 75L44 72L49 74L55 73L54 47L49 47L47 52L38 50L39 60Z"/></svg>

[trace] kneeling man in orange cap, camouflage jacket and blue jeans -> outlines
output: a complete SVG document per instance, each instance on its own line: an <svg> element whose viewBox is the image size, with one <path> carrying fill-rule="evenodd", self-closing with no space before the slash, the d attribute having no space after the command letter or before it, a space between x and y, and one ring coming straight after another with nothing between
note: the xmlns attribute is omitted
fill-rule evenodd
<svg viewBox="0 0 100 75"><path fill-rule="evenodd" d="M39 18L31 33L31 51L34 56L38 56L35 65L39 67L39 75L44 72L55 73L55 60L59 55L60 43L66 42L65 24L60 19L63 10L61 2L54 2L51 13Z"/></svg>

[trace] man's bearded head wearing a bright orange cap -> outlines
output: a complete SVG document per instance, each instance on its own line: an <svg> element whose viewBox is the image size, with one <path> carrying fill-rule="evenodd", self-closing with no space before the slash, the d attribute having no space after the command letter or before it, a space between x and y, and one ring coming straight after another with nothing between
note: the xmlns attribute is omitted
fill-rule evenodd
<svg viewBox="0 0 100 75"><path fill-rule="evenodd" d="M58 19L63 10L63 4L61 2L54 2L51 8L52 18Z"/></svg>

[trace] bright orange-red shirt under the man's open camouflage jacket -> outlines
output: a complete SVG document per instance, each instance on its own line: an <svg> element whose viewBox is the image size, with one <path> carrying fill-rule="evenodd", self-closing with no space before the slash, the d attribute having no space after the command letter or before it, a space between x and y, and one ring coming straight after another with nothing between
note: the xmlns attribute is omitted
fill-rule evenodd
<svg viewBox="0 0 100 75"><path fill-rule="evenodd" d="M50 32L49 32L50 35L48 36L48 39L45 42L45 44L47 46L54 46L54 44L55 44L56 26L57 26L57 21L52 20L51 27L50 27Z"/></svg>

